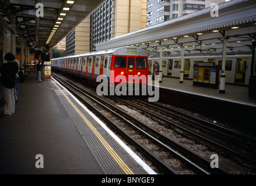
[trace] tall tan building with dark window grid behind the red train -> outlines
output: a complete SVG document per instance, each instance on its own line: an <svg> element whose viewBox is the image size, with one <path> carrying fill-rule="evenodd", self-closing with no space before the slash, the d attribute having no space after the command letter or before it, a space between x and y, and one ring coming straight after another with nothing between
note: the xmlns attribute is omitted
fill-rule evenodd
<svg viewBox="0 0 256 186"><path fill-rule="evenodd" d="M95 45L146 27L147 0L106 0L66 36L66 55L95 51Z"/></svg>

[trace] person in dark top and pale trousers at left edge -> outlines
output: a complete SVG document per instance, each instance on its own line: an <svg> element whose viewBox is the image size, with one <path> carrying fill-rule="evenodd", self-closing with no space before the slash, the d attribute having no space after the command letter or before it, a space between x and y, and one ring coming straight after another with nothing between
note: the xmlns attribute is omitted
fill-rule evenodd
<svg viewBox="0 0 256 186"><path fill-rule="evenodd" d="M14 58L13 58L14 57ZM0 67L0 83L3 88L3 99L5 99L5 108L1 116L12 115L15 113L15 75L19 70L19 67L13 62L15 56L12 53L6 53L4 59L7 60L7 63L3 63Z"/></svg>

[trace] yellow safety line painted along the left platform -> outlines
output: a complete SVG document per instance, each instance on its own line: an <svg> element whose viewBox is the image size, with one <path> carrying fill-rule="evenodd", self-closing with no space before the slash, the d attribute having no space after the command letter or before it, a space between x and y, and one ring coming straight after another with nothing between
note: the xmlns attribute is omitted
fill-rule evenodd
<svg viewBox="0 0 256 186"><path fill-rule="evenodd" d="M85 121L87 126L93 131L93 133L96 135L96 137L100 140L101 144L104 145L104 147L107 149L107 151L110 153L110 155L114 158L115 162L118 163L118 165L121 167L121 169L124 171L125 174L134 174L134 172L127 166L127 164L120 158L120 156L114 151L114 149L108 144L108 142L102 137L102 135L97 131L97 129L90 123L89 120L83 115L82 112L72 103L72 101L68 98L68 96L61 90L61 88L58 87L57 84L52 82L59 91L65 96L65 98L68 100L68 102L73 106L73 108L76 110L76 112L82 117L82 119Z"/></svg>

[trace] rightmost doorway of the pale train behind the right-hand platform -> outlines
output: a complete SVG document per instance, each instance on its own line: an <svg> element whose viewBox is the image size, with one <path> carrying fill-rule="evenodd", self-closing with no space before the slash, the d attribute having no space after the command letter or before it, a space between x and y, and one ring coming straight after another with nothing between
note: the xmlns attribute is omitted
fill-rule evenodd
<svg viewBox="0 0 256 186"><path fill-rule="evenodd" d="M244 83L244 81L246 80L246 63L247 58L237 59L235 83Z"/></svg>

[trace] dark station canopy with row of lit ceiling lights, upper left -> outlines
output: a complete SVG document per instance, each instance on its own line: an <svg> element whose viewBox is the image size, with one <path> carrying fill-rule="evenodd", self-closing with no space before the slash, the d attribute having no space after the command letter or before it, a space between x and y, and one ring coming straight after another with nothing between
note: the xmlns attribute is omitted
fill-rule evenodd
<svg viewBox="0 0 256 186"><path fill-rule="evenodd" d="M54 47L103 0L5 0L0 1L0 22L21 39L31 38L36 47ZM51 35L53 34L53 35Z"/></svg>

